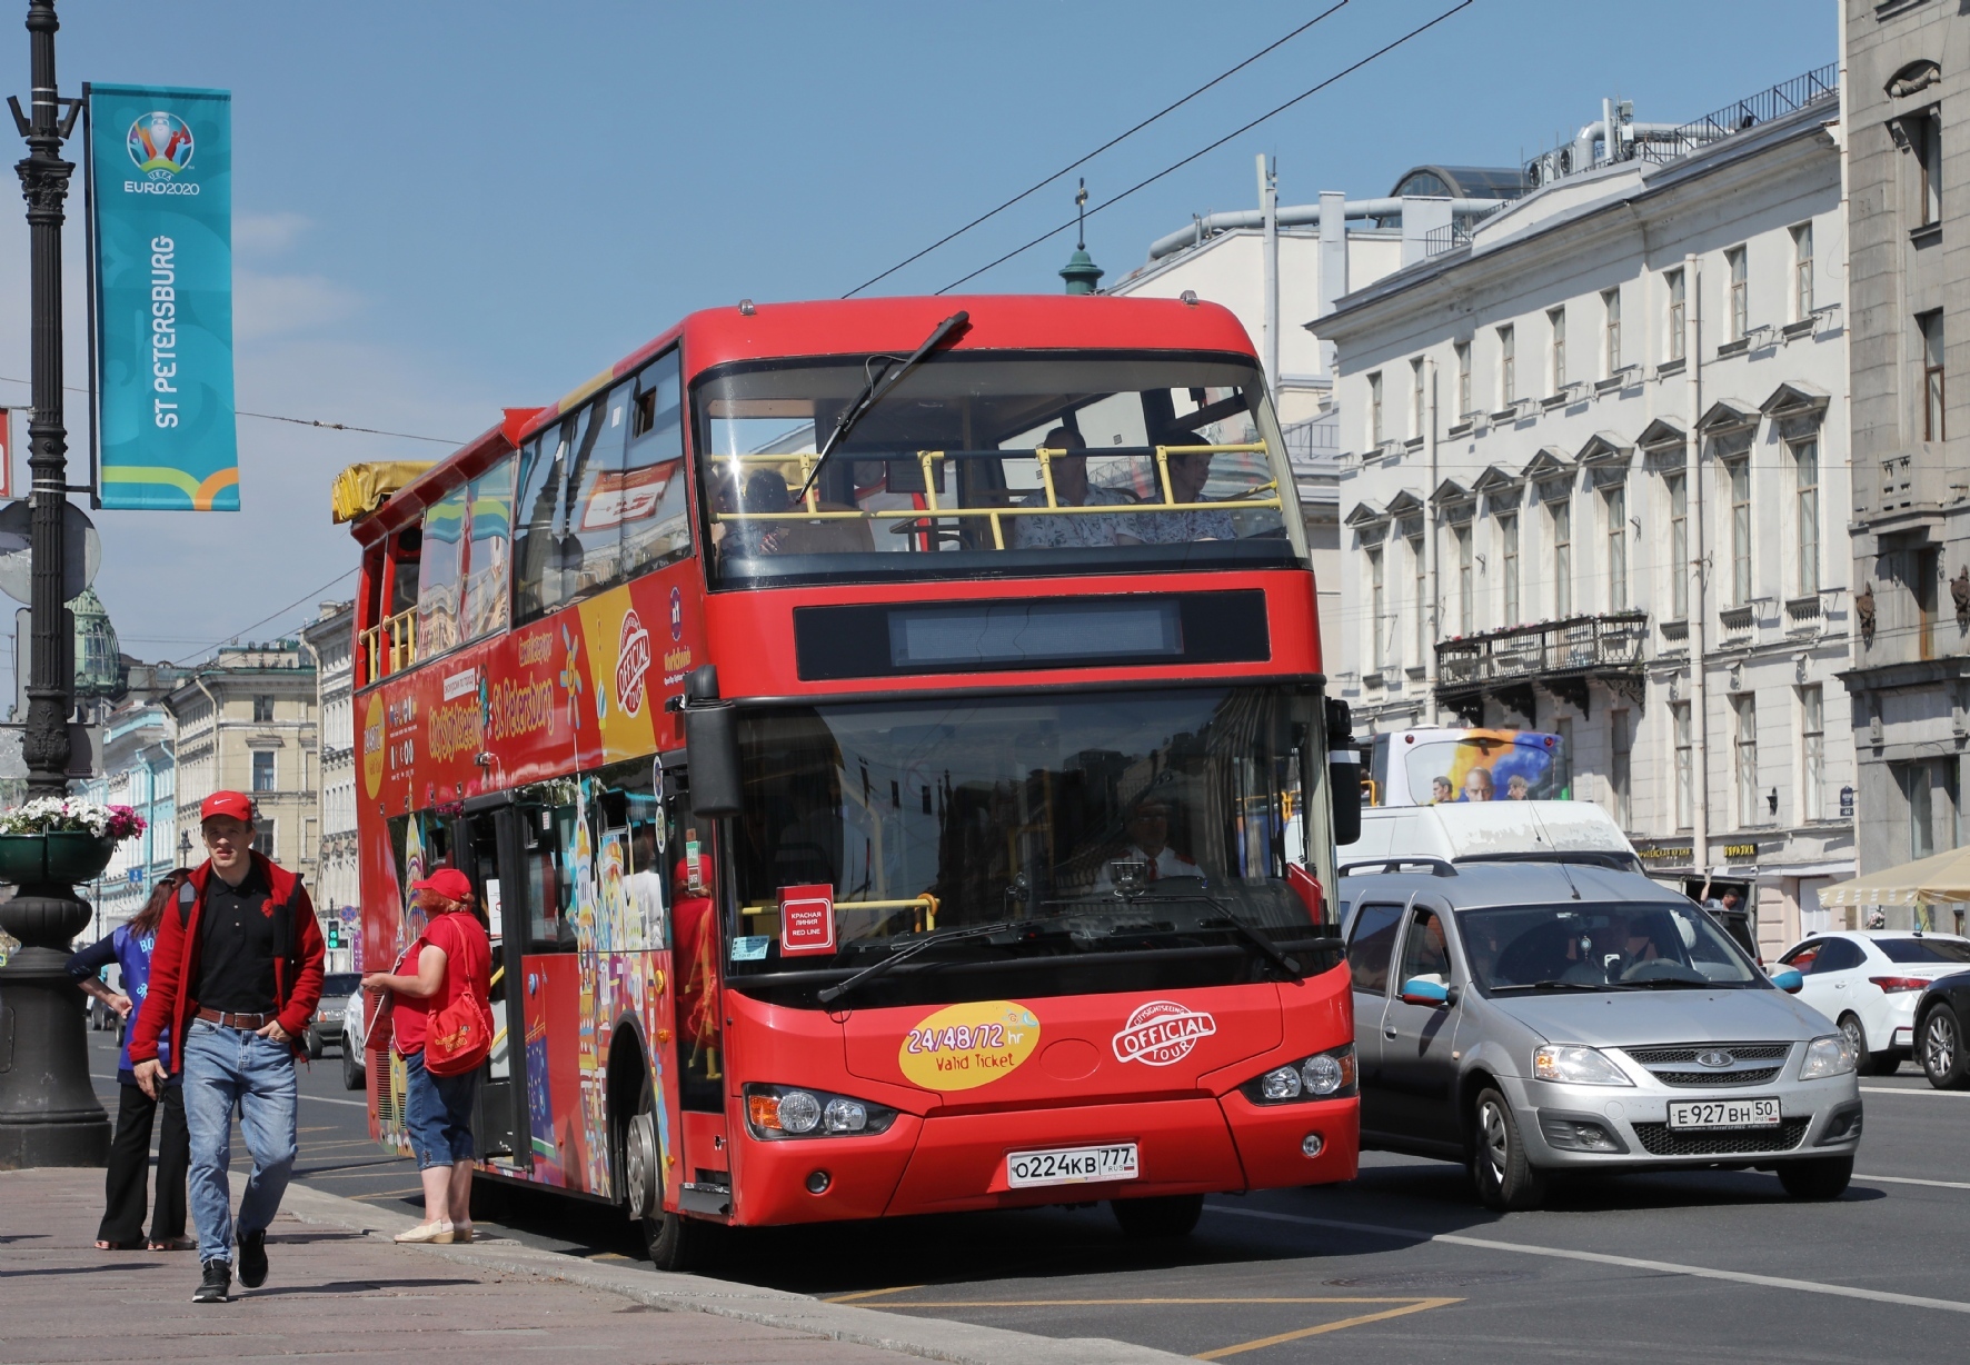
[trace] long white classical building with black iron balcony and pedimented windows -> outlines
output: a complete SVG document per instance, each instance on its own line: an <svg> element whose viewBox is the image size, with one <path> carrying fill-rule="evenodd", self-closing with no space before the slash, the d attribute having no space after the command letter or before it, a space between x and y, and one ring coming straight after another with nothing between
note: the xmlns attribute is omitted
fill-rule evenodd
<svg viewBox="0 0 1970 1365"><path fill-rule="evenodd" d="M1560 733L1576 800L1665 880L1755 882L1783 947L1854 873L1834 73L1608 122L1308 323L1344 422L1334 674L1357 733Z"/></svg>

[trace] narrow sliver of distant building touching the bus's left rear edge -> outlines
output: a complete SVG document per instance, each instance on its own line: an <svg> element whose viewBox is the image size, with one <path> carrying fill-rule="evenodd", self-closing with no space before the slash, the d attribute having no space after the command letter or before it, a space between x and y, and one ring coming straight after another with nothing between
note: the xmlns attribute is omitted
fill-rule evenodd
<svg viewBox="0 0 1970 1365"><path fill-rule="evenodd" d="M351 701L351 648L355 603L321 603L321 617L301 628L315 660L315 715L321 735L321 802L317 810L319 865L315 910L337 924L339 945L329 949L329 971L361 971L355 934L361 904L357 875L357 768L355 711Z"/></svg>

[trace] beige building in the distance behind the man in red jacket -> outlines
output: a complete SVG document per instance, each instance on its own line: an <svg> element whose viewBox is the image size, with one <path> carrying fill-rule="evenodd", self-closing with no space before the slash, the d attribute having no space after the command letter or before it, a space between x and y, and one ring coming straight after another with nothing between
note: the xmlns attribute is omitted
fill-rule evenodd
<svg viewBox="0 0 1970 1365"><path fill-rule="evenodd" d="M199 802L246 792L256 847L315 884L319 794L315 664L299 640L232 644L164 697L177 733L177 849L199 863Z"/></svg>

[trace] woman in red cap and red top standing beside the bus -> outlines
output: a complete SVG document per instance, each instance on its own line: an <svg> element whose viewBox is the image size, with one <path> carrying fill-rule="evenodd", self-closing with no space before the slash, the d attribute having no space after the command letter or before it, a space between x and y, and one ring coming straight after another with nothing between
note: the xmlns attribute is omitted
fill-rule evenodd
<svg viewBox="0 0 1970 1365"><path fill-rule="evenodd" d="M390 1048L404 1058L408 1095L404 1127L424 1178L424 1221L396 1241L459 1243L473 1239L473 1101L479 1068L463 1075L424 1070L431 1016L471 991L481 1003L492 993L492 943L479 922L473 884L455 867L441 867L410 886L429 916L400 971L372 971L364 991L392 991Z"/></svg>

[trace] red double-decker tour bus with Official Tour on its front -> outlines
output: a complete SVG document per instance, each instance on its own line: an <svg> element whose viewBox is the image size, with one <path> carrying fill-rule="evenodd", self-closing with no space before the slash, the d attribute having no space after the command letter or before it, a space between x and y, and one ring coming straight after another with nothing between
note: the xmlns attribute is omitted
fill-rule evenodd
<svg viewBox="0 0 1970 1365"><path fill-rule="evenodd" d="M1166 1235L1355 1174L1353 752L1221 307L693 313L337 504L362 961L431 867L481 886L485 1176L682 1267L719 1223Z"/></svg>

